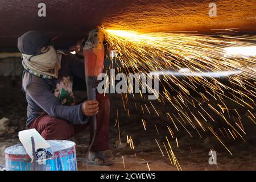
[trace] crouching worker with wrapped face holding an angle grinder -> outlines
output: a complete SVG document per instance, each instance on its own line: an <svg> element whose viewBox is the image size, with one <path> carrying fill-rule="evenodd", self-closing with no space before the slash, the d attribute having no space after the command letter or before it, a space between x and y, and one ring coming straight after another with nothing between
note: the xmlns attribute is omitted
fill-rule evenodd
<svg viewBox="0 0 256 182"><path fill-rule="evenodd" d="M75 104L73 79L85 80L84 61L76 55L56 51L50 39L39 31L28 31L18 38L22 53L22 88L27 99L27 127L36 129L44 139L70 139L90 127L90 116L97 114L97 133L88 162L112 164L102 151L109 145L109 98L97 94L97 101Z"/></svg>

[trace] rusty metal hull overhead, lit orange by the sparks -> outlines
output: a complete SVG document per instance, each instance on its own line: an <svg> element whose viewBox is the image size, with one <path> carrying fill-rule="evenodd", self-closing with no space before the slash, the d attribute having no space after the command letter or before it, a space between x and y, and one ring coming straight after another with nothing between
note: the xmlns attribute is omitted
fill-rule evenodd
<svg viewBox="0 0 256 182"><path fill-rule="evenodd" d="M256 31L256 1L221 0L217 16L210 17L209 3L203 0L46 0L46 17L38 16L41 0L0 1L0 51L16 48L16 39L28 30L41 30L56 40L57 47L68 47L86 36L92 28L132 28L134 30L196 30L240 28Z"/></svg>

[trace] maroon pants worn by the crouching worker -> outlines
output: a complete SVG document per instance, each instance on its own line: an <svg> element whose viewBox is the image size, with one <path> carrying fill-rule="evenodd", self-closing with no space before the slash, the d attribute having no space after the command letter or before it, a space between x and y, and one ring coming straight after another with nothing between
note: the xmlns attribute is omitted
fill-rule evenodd
<svg viewBox="0 0 256 182"><path fill-rule="evenodd" d="M99 102L99 111L97 118L97 131L92 151L109 150L109 98L104 94L97 94L96 100ZM93 137L92 117L85 125L72 125L63 119L57 119L47 114L35 118L29 126L29 129L36 129L44 139L69 139L90 127L90 141Z"/></svg>

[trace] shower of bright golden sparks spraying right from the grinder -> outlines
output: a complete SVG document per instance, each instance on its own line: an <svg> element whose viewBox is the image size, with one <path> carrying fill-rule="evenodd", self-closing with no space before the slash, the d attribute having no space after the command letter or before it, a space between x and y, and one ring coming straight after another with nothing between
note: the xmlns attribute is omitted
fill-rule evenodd
<svg viewBox="0 0 256 182"><path fill-rule="evenodd" d="M168 104L170 107L165 118L172 125L167 126L167 129L171 137L175 138L177 147L179 144L174 137L175 130L179 131L179 127L182 126L191 137L193 137L191 129L201 138L203 138L201 135L203 132L210 131L232 155L219 136L226 135L234 140L239 137L244 140L245 131L241 115L234 109L233 104L245 109L245 116L256 124L254 110L256 57L248 56L249 53L247 56L228 55L232 50L230 47L255 46L250 43L256 40L255 36L206 36L170 31L144 33L129 30L102 30L109 49L115 52L115 56L110 56L112 63L115 61L119 68L126 68L127 74L148 73L160 78L159 84L163 89L159 93L158 102L163 105ZM223 76L228 80L225 83L218 79ZM198 94L202 100L193 96L190 90ZM145 98L142 94L141 97ZM126 110L127 96L122 94L122 101ZM163 118L164 114L154 106L154 102L149 103L148 106L141 105L142 113L150 115L154 113ZM220 128L213 131L213 127L209 127L210 122L216 122L214 121L216 115L225 124L223 131ZM142 124L146 130L144 119ZM157 128L156 130L158 131ZM127 141L129 140L127 138ZM167 142L170 149L166 144L163 143L163 145L171 164L181 169L168 139ZM158 144L157 140L156 143ZM160 148L159 144L158 147ZM162 152L161 148L160 151ZM163 152L162 155L164 155Z"/></svg>

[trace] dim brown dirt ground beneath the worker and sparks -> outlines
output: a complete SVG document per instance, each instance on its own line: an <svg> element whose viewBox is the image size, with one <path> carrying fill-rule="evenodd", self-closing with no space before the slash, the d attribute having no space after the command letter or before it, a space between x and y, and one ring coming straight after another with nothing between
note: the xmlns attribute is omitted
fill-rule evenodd
<svg viewBox="0 0 256 182"><path fill-rule="evenodd" d="M84 93L77 93L80 97ZM0 164L5 166L5 148L19 142L18 131L25 129L26 121L26 100L24 94L19 89L0 88L0 119L5 117L9 119L8 131L0 133ZM255 170L256 169L256 126L253 122L246 119L243 109L240 109L242 122L245 127L246 135L242 139L222 138L225 146L232 152L232 155L226 148L209 132L201 132L201 137L196 131L189 131L191 137L185 130L175 133L171 137L164 119L156 115L141 113L135 109L134 104L143 105L146 102L135 98L126 105L126 111L123 109L123 103L120 95L110 95L110 145L111 150L106 154L113 158L113 166L87 166L85 164L85 155L88 148L88 130L75 137L77 165L79 170L177 170L174 164L171 164L168 154L164 149L163 142L167 144L166 137L170 141L172 150L180 164L182 170ZM119 131L117 125L117 109ZM129 109L129 114L127 114ZM158 109L171 110L171 106L158 106ZM130 116L129 116L130 115ZM144 130L142 120L146 120L146 130ZM218 118L213 128L220 126ZM171 126L171 124L170 124ZM157 130L156 130L157 128ZM134 149L130 144L123 144L117 148L119 143L127 142L127 135L132 137ZM179 144L177 147L176 138ZM162 148L162 152L160 151ZM168 144L167 144L168 145ZM167 146L168 147L168 146ZM217 152L217 165L210 165L208 155L210 150ZM173 161L172 161L173 162ZM177 164L177 163L176 163Z"/></svg>

